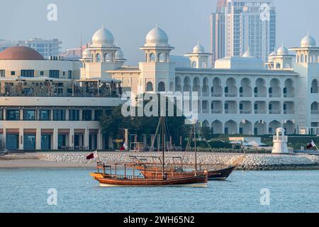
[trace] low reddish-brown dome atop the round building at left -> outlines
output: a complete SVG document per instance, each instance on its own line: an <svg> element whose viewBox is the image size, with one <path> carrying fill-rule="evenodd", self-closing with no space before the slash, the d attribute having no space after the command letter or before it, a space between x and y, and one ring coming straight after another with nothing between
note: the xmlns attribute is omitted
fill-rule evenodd
<svg viewBox="0 0 319 227"><path fill-rule="evenodd" d="M0 52L0 60L45 60L32 48L15 46Z"/></svg>

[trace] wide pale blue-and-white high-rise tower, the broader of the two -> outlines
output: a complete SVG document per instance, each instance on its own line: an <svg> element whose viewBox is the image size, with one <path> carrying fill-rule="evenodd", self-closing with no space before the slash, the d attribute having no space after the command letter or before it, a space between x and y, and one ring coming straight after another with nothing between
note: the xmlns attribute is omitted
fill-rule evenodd
<svg viewBox="0 0 319 227"><path fill-rule="evenodd" d="M273 0L227 0L225 56L251 54L267 61L276 46L276 11Z"/></svg>

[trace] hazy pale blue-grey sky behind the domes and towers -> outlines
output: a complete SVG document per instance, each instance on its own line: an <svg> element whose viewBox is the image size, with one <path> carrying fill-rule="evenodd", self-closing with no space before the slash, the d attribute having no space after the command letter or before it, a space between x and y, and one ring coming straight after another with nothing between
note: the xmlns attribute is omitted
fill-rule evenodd
<svg viewBox="0 0 319 227"><path fill-rule="evenodd" d="M209 50L209 13L217 0L1 0L0 38L59 38L63 48L77 48L105 23L129 64L142 59L145 35L159 23L176 48L190 52L197 40ZM309 31L319 42L318 0L274 0L277 45L299 45ZM47 21L47 5L57 4L57 21Z"/></svg>

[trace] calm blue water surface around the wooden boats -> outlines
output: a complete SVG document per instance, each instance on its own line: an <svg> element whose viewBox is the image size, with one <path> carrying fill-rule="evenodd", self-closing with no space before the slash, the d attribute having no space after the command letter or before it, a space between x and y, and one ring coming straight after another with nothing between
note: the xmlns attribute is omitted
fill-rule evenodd
<svg viewBox="0 0 319 227"><path fill-rule="evenodd" d="M100 188L90 171L0 170L0 212L319 212L319 171L236 171L208 188Z"/></svg>

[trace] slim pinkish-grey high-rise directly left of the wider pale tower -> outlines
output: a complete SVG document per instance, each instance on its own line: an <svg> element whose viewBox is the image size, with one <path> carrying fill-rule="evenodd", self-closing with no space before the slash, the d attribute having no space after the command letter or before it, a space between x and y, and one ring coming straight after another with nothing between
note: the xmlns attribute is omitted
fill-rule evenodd
<svg viewBox="0 0 319 227"><path fill-rule="evenodd" d="M213 53L211 65L225 57L225 7L227 0L218 0L216 13L211 13L211 52Z"/></svg>

